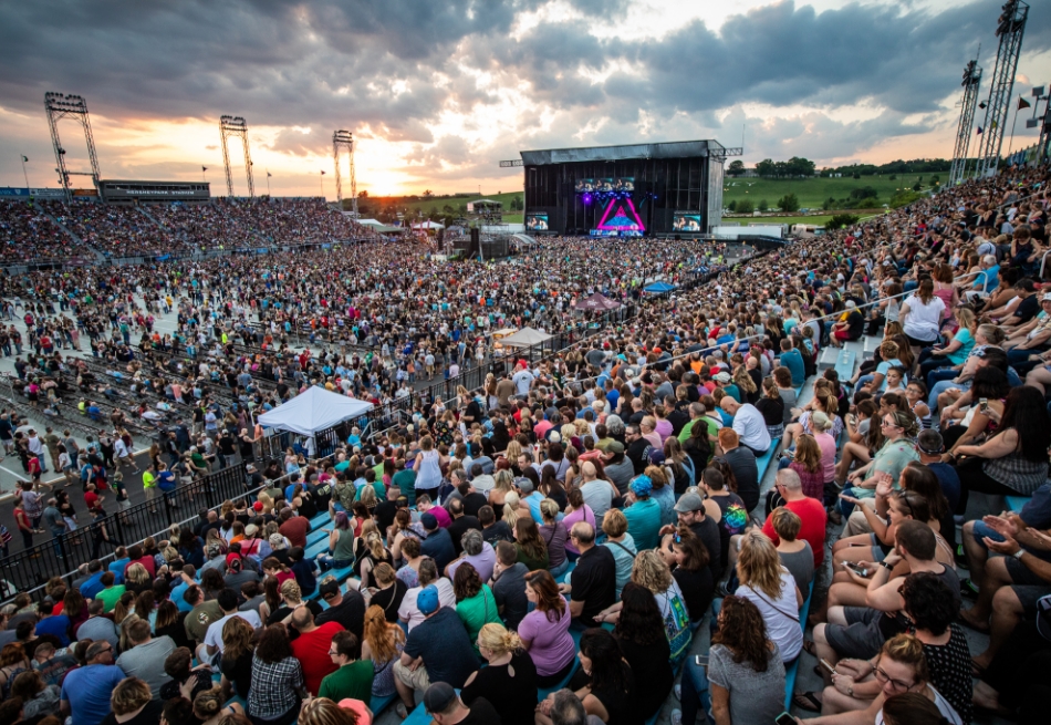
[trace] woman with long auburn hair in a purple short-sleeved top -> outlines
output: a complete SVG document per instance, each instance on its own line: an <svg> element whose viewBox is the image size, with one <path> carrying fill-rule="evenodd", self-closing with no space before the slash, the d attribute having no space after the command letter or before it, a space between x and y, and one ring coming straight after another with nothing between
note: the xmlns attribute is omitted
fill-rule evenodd
<svg viewBox="0 0 1051 725"><path fill-rule="evenodd" d="M563 682L576 662L576 645L569 629L572 614L550 572L526 576L526 597L535 605L518 628L522 648L537 669L537 685L551 687Z"/></svg>

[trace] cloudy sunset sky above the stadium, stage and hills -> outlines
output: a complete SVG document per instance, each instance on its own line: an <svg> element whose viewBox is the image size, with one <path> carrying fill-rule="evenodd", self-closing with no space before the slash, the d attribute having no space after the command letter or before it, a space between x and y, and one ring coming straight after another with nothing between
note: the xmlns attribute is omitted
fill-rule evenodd
<svg viewBox="0 0 1051 725"><path fill-rule="evenodd" d="M223 114L248 121L257 194L269 172L274 195L330 199L335 130L354 134L372 196L520 189L498 164L532 148L715 138L743 143L749 166L949 158L979 44L988 94L1001 4L0 0L0 186L25 185L22 155L30 186L58 186L48 91L86 99L103 178L205 178L214 195ZM1012 108L1051 83L1051 6L1031 4ZM1036 142L1031 113L1016 149ZM87 169L80 126L59 132L69 168ZM230 158L243 195L237 141Z"/></svg>

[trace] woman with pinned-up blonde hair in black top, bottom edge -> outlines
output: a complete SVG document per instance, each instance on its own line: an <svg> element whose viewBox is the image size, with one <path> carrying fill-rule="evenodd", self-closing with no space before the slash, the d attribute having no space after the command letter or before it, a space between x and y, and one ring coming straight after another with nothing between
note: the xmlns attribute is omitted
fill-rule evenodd
<svg viewBox="0 0 1051 725"><path fill-rule="evenodd" d="M537 707L537 665L522 640L503 624L490 622L478 631L476 642L488 666L476 671L460 693L464 704L485 697L503 725L533 725Z"/></svg>

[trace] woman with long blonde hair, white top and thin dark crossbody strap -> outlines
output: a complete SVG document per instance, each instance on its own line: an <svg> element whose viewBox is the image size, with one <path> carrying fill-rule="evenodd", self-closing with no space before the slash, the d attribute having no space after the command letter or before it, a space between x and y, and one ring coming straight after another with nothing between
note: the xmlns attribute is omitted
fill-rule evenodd
<svg viewBox="0 0 1051 725"><path fill-rule="evenodd" d="M759 608L770 639L781 651L781 660L794 661L803 649L799 610L805 600L795 579L781 563L773 541L758 529L741 537L737 578L740 586L735 594Z"/></svg>

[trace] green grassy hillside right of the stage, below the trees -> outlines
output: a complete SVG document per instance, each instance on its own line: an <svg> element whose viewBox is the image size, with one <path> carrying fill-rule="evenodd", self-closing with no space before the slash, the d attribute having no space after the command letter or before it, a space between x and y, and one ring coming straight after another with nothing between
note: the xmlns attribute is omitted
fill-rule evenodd
<svg viewBox="0 0 1051 725"><path fill-rule="evenodd" d="M899 174L892 180L888 175L884 176L862 176L861 178L805 178L805 179L767 179L767 178L733 178L726 177L722 184L722 203L739 201L748 199L753 205L766 199L767 204L773 208L785 194L794 194L799 198L800 208L820 209L825 199L845 199L850 197L851 191L871 186L880 196L880 201L887 204L891 197L901 189L909 189L917 179L923 177L924 189L930 188L932 176L939 177L944 184L948 178L948 172L943 174Z"/></svg>

